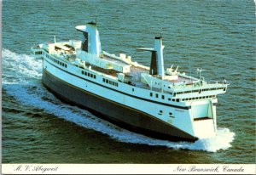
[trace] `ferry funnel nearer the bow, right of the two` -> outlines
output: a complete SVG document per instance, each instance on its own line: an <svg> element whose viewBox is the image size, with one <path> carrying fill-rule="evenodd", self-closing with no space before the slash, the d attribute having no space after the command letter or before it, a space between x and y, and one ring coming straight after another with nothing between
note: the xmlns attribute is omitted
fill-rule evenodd
<svg viewBox="0 0 256 175"><path fill-rule="evenodd" d="M165 46L162 45L162 37L154 38L154 48L137 48L138 50L146 50L152 53L149 71L150 75L165 76L163 57L164 48Z"/></svg>

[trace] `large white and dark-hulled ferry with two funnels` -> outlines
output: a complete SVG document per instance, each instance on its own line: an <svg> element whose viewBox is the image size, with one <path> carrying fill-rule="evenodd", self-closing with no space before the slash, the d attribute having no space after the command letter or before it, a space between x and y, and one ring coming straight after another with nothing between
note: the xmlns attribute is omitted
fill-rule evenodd
<svg viewBox="0 0 256 175"><path fill-rule="evenodd" d="M154 38L150 67L102 50L96 22L76 26L83 41L32 47L43 59L42 82L56 97L152 138L195 142L217 133L217 95L228 84L164 69L163 38Z"/></svg>

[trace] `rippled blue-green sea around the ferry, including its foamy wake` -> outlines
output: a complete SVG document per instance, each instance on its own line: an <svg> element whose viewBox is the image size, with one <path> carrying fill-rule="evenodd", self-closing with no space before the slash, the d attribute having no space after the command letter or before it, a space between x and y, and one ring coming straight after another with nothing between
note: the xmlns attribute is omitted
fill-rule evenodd
<svg viewBox="0 0 256 175"><path fill-rule="evenodd" d="M256 163L256 33L253 1L6 0L2 17L3 163ZM41 84L34 44L81 39L76 25L97 16L102 48L150 64L164 37L165 67L208 81L226 79L218 96L218 135L195 143L131 133L62 103Z"/></svg>

